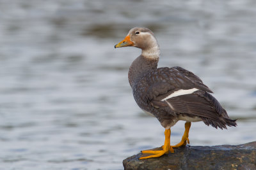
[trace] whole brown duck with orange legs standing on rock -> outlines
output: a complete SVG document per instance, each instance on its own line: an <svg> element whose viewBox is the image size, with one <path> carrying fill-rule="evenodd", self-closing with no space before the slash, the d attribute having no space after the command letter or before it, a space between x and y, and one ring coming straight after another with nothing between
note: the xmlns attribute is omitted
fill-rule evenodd
<svg viewBox="0 0 256 170"><path fill-rule="evenodd" d="M141 49L129 67L128 79L138 106L153 115L164 127L164 145L161 150L143 150L140 159L161 157L173 153L173 148L189 144L191 122L204 122L216 129L236 127L236 120L211 95L212 90L191 71L182 67L157 67L160 50L157 39L150 29L132 28L115 48L134 46ZM182 139L170 145L171 127L179 120L185 121Z"/></svg>

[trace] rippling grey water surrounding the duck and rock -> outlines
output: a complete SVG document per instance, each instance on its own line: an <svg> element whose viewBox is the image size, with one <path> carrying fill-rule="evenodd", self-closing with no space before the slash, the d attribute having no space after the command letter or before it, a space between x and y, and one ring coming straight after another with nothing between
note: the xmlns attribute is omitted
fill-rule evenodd
<svg viewBox="0 0 256 170"><path fill-rule="evenodd" d="M0 1L0 169L123 169L163 145L127 80L134 26L161 46L159 67L202 78L237 118L221 131L193 123L191 145L256 140L256 1ZM172 128L180 141L184 122Z"/></svg>

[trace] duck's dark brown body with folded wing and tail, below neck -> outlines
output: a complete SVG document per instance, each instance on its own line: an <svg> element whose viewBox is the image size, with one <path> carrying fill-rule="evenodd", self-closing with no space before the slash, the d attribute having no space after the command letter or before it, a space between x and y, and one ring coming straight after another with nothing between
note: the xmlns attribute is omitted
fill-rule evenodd
<svg viewBox="0 0 256 170"><path fill-rule="evenodd" d="M163 126L187 119L202 120L221 129L232 125L232 121L226 120L227 112L209 94L212 91L198 76L182 67L148 71L136 80L132 90L138 106L152 113Z"/></svg>

